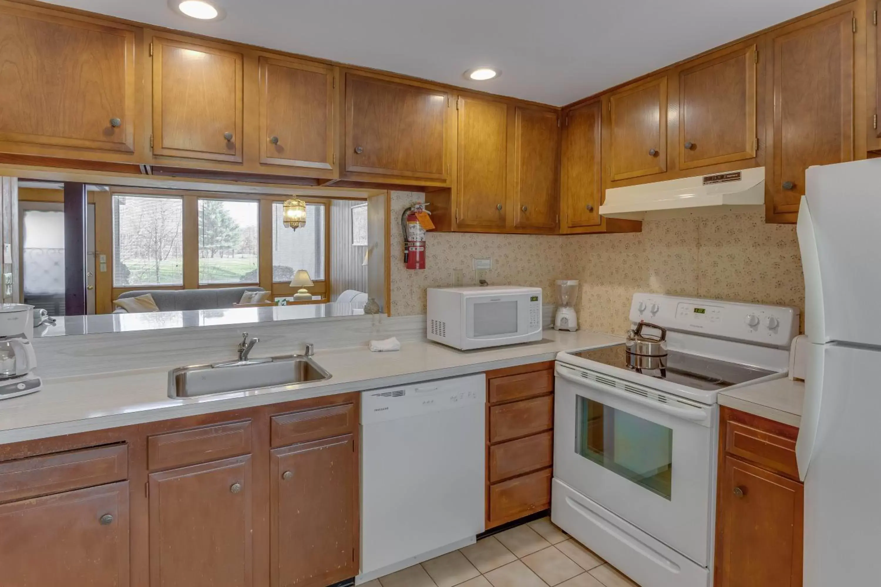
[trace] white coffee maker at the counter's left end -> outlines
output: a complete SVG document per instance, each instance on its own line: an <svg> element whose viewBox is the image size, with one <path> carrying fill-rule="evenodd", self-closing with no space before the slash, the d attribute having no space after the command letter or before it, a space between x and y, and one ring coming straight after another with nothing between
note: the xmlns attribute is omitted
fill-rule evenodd
<svg viewBox="0 0 881 587"><path fill-rule="evenodd" d="M0 304L0 400L40 391L32 340L33 306Z"/></svg>

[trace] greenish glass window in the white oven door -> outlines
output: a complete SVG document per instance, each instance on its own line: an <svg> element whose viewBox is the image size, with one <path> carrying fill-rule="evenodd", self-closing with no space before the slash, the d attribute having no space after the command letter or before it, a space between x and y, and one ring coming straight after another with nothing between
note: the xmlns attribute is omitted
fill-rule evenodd
<svg viewBox="0 0 881 587"><path fill-rule="evenodd" d="M673 430L581 396L575 452L670 500Z"/></svg>

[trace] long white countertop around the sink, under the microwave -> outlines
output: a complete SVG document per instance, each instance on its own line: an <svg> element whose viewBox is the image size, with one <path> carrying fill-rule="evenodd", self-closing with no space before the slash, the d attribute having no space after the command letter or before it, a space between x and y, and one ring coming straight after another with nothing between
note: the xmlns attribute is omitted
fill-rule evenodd
<svg viewBox="0 0 881 587"><path fill-rule="evenodd" d="M498 349L463 352L415 341L403 342L400 351L389 353L372 353L366 346L319 350L314 359L330 372L328 380L183 399L167 395L168 371L180 365L47 379L38 393L0 401L0 444L455 377L551 361L561 350L621 341L586 330L545 330L543 341Z"/></svg>

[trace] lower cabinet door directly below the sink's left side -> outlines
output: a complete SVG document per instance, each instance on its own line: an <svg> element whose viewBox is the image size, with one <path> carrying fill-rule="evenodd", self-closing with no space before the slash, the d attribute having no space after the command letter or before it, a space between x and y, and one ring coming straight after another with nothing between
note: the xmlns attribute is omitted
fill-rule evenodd
<svg viewBox="0 0 881 587"><path fill-rule="evenodd" d="M250 587L251 458L150 475L150 586Z"/></svg>

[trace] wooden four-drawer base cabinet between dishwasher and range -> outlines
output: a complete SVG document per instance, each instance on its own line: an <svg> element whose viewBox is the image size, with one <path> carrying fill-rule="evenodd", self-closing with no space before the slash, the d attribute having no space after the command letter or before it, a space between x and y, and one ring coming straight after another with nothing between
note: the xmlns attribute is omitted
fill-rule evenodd
<svg viewBox="0 0 881 587"><path fill-rule="evenodd" d="M486 373L486 529L551 507L553 361Z"/></svg>

